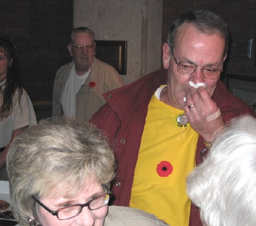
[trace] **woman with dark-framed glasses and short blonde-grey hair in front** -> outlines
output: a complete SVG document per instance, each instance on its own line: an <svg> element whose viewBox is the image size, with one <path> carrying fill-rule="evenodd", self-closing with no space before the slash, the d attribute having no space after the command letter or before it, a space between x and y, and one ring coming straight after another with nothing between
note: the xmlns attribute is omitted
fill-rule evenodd
<svg viewBox="0 0 256 226"><path fill-rule="evenodd" d="M19 225L167 225L154 215L112 206L113 150L93 125L74 118L27 128L7 155L10 196Z"/></svg>

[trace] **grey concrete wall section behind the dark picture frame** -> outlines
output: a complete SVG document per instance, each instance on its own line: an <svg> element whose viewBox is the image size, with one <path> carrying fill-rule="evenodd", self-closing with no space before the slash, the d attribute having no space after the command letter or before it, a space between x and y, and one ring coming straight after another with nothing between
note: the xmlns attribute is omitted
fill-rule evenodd
<svg viewBox="0 0 256 226"><path fill-rule="evenodd" d="M73 2L73 27L89 27L96 40L127 41L125 83L161 67L162 0Z"/></svg>

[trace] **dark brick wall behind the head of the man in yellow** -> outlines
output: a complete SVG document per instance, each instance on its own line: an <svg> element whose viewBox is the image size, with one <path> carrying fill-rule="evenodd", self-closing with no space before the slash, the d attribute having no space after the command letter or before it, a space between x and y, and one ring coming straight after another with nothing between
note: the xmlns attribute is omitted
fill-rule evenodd
<svg viewBox="0 0 256 226"><path fill-rule="evenodd" d="M225 73L256 77L255 62L255 21L256 0L164 0L163 1L163 41L174 19L191 9L206 9L220 15L228 24L231 43ZM253 39L251 58L238 58L240 41ZM225 80L225 78L224 78Z"/></svg>

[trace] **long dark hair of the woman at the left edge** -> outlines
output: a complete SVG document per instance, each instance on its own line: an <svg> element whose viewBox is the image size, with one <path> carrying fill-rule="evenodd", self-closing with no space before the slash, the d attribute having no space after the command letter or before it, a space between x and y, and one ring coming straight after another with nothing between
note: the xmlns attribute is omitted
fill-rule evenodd
<svg viewBox="0 0 256 226"><path fill-rule="evenodd" d="M18 102L20 106L20 98L22 97L22 84L19 81L20 65L19 52L10 37L0 36L0 51L4 52L8 61L5 88L0 88L2 93L2 106L0 107L0 120L7 118L13 111L13 103L15 91L18 91ZM22 110L20 106L20 110Z"/></svg>

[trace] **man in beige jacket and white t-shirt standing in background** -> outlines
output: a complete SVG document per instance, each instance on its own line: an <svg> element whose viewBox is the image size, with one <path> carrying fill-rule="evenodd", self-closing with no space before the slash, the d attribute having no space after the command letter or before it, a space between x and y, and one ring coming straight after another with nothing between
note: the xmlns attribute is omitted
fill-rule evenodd
<svg viewBox="0 0 256 226"><path fill-rule="evenodd" d="M93 31L71 31L68 51L72 62L57 70L53 86L52 116L77 116L88 121L106 102L102 94L123 86L118 72L98 60Z"/></svg>

